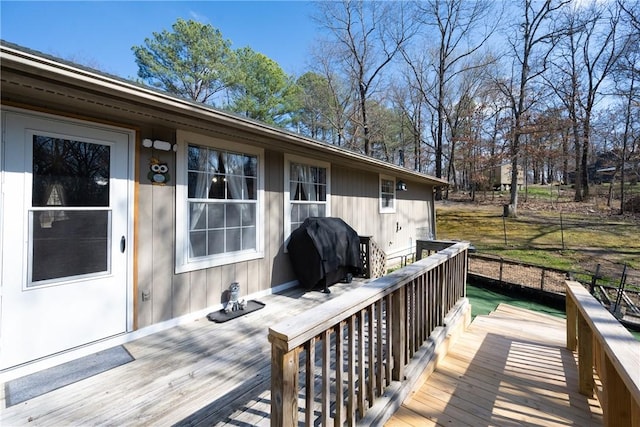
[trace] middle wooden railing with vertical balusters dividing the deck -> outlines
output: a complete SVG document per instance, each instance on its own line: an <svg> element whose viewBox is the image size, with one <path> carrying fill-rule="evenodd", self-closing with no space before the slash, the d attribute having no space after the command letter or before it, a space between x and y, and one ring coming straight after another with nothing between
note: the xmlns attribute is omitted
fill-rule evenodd
<svg viewBox="0 0 640 427"><path fill-rule="evenodd" d="M405 379L465 296L469 244L444 246L269 329L272 426L354 425Z"/></svg>

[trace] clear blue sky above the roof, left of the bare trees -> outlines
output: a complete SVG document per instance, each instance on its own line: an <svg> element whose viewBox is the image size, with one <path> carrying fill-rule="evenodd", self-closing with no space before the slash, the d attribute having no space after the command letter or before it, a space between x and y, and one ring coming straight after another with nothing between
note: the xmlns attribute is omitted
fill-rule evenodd
<svg viewBox="0 0 640 427"><path fill-rule="evenodd" d="M300 75L316 39L306 1L0 1L0 37L30 49L135 78L131 46L178 19L219 29L231 47L249 46Z"/></svg>

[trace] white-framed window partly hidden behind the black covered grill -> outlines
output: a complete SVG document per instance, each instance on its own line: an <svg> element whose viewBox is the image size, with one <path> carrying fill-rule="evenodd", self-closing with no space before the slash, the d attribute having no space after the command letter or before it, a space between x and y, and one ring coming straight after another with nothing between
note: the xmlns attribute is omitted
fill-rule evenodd
<svg viewBox="0 0 640 427"><path fill-rule="evenodd" d="M285 157L285 240L309 217L330 215L330 166L300 157Z"/></svg>

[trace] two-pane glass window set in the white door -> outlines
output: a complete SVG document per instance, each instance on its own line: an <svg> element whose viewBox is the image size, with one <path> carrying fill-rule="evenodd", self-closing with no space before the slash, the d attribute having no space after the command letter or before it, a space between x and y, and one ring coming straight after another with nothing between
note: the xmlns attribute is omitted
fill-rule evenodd
<svg viewBox="0 0 640 427"><path fill-rule="evenodd" d="M111 147L33 135L29 287L110 272Z"/></svg>

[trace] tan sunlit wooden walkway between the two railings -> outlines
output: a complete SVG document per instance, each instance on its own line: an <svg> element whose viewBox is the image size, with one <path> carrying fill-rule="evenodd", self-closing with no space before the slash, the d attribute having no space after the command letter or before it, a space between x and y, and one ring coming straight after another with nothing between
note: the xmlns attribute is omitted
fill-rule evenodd
<svg viewBox="0 0 640 427"><path fill-rule="evenodd" d="M386 426L603 425L565 337L564 320L508 305L478 316Z"/></svg>

